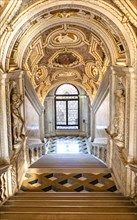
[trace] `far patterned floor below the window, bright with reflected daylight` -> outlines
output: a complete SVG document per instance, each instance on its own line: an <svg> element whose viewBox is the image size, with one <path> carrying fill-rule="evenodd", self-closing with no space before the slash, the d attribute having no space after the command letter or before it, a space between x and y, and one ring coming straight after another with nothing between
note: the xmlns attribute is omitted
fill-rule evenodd
<svg viewBox="0 0 137 220"><path fill-rule="evenodd" d="M88 154L87 139L84 137L53 137L46 143L46 154Z"/></svg>

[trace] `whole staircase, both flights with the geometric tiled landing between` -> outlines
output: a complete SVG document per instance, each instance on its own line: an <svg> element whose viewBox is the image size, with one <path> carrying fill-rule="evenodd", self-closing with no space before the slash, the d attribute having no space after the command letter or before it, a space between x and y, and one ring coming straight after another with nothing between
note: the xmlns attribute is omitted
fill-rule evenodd
<svg viewBox="0 0 137 220"><path fill-rule="evenodd" d="M137 207L90 155L41 157L0 212L0 220L137 220Z"/></svg>

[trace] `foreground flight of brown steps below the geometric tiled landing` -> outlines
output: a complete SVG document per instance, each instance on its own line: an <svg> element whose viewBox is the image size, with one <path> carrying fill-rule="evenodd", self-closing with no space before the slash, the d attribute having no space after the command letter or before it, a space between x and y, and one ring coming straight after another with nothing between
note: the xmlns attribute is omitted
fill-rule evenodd
<svg viewBox="0 0 137 220"><path fill-rule="evenodd" d="M1 220L137 219L132 201L113 192L18 192L0 211Z"/></svg>

